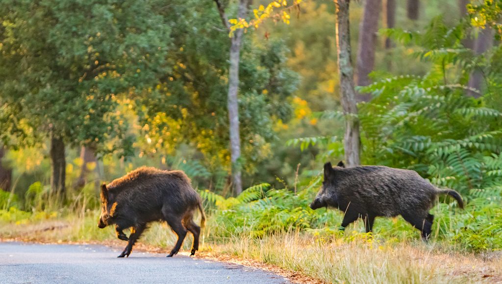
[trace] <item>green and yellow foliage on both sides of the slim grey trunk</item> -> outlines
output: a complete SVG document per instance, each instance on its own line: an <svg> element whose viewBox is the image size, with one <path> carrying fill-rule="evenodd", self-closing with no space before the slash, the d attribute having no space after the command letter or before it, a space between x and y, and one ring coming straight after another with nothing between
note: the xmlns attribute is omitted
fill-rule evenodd
<svg viewBox="0 0 502 284"><path fill-rule="evenodd" d="M171 22L170 72L138 97L136 109L147 152L172 155L188 145L211 172L229 171L227 78L230 41L215 29L221 19L213 2L178 1L163 11ZM191 2L190 2L191 3ZM289 120L287 99L298 76L286 67L282 41L246 35L239 64L239 128L244 172L271 154L273 123Z"/></svg>

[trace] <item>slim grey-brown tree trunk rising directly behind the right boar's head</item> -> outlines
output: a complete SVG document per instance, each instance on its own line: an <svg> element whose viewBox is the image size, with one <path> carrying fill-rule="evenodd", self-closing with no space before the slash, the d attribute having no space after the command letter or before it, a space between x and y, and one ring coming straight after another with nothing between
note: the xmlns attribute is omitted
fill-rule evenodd
<svg viewBox="0 0 502 284"><path fill-rule="evenodd" d="M359 161L360 137L359 119L355 101L353 68L350 58L349 3L337 0L336 47L338 52L338 73L343 114L345 115L345 162L348 167L357 166Z"/></svg>

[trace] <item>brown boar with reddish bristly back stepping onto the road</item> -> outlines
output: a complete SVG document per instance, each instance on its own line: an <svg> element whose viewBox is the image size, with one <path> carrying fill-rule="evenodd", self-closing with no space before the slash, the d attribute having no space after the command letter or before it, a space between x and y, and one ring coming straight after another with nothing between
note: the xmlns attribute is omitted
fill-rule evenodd
<svg viewBox="0 0 502 284"><path fill-rule="evenodd" d="M191 255L199 249L200 227L193 221L193 212L206 216L199 194L182 171L163 171L153 167L138 168L108 185L101 186L101 216L99 228L115 224L117 237L128 241L118 257L129 256L134 243L148 224L166 221L178 235L178 241L168 256L178 253L187 234L193 234ZM131 228L129 238L123 230Z"/></svg>

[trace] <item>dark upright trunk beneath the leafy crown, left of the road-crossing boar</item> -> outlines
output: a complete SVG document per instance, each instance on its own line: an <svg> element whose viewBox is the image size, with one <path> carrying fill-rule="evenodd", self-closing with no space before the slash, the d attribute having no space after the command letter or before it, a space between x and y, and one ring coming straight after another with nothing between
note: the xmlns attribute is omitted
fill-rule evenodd
<svg viewBox="0 0 502 284"><path fill-rule="evenodd" d="M64 194L66 181L66 161L64 142L61 138L51 135L51 189L54 193Z"/></svg>

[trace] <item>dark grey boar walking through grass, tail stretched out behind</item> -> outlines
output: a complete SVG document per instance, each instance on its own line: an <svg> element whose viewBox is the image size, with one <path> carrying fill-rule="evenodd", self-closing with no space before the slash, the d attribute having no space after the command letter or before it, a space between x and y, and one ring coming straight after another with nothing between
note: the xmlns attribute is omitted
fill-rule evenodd
<svg viewBox="0 0 502 284"><path fill-rule="evenodd" d="M361 217L366 232L371 231L375 217L397 215L419 229L422 238L431 234L434 215L429 209L438 194L449 194L460 208L464 204L455 190L438 189L417 172L385 166L345 168L324 165L324 181L310 208L335 207L345 212L340 229Z"/></svg>

